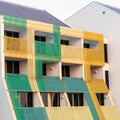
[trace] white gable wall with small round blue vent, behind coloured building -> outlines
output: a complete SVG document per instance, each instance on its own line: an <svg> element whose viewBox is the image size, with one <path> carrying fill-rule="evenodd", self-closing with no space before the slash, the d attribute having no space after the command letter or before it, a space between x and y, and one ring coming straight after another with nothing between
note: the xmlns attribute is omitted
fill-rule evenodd
<svg viewBox="0 0 120 120"><path fill-rule="evenodd" d="M73 28L102 33L108 39L110 90L120 112L120 14L92 2L65 22Z"/></svg>

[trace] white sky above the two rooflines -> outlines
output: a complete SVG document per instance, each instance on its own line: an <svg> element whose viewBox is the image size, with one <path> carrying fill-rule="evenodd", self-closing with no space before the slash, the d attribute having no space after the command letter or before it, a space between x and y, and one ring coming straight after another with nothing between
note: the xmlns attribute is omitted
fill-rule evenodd
<svg viewBox="0 0 120 120"><path fill-rule="evenodd" d="M93 0L0 0L17 3L32 8L46 10L64 21ZM120 0L96 0L104 4L120 8Z"/></svg>

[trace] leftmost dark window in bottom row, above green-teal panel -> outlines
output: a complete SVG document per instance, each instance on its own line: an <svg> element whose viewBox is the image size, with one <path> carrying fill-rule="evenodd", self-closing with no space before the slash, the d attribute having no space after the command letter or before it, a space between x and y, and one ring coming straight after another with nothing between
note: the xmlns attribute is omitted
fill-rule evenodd
<svg viewBox="0 0 120 120"><path fill-rule="evenodd" d="M33 93L32 92L20 92L20 103L22 107L33 107Z"/></svg>

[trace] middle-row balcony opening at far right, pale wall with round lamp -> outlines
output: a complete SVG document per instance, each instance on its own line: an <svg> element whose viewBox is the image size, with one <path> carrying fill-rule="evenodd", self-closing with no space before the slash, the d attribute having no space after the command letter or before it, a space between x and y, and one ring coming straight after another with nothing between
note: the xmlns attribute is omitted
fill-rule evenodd
<svg viewBox="0 0 120 120"><path fill-rule="evenodd" d="M91 78L92 79L103 79L103 67L102 66L91 66Z"/></svg>

